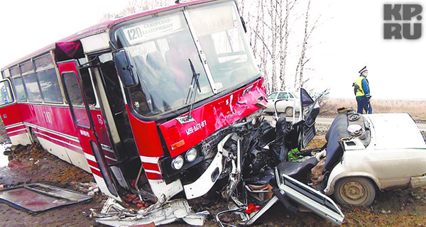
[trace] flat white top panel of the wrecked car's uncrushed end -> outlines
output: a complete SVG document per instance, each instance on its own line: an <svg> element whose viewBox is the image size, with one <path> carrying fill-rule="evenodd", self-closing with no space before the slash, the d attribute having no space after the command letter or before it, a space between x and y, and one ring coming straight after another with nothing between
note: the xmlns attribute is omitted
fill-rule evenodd
<svg viewBox="0 0 426 227"><path fill-rule="evenodd" d="M371 142L376 149L426 148L425 140L409 114L368 114Z"/></svg>

